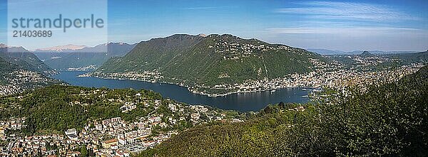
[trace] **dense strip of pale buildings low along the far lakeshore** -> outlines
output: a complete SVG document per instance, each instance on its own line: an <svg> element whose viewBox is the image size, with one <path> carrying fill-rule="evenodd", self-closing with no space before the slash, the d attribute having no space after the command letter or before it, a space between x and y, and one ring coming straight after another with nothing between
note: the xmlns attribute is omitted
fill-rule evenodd
<svg viewBox="0 0 428 157"><path fill-rule="evenodd" d="M214 89L240 92L258 92L265 90L276 90L286 87L329 87L339 89L351 85L367 87L367 85L382 84L398 80L419 70L423 65L404 65L394 70L381 71L359 71L359 70L336 70L330 72L309 72L305 74L292 74L287 77L272 80L250 80L242 84L216 85ZM199 92L200 94L204 94ZM222 94L210 94L219 96Z"/></svg>

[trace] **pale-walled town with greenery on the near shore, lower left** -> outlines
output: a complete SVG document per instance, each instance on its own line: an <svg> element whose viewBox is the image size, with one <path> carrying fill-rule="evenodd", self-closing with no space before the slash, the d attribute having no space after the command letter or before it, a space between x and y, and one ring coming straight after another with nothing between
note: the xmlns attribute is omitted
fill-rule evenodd
<svg viewBox="0 0 428 157"><path fill-rule="evenodd" d="M100 90L81 92L106 94ZM141 94L135 95L136 99ZM21 130L27 126L26 117L0 121L0 156L131 156L133 153L153 148L190 126L211 121L240 122L242 120L222 110L201 105L187 105L171 100L163 104L160 99L143 102L108 99L122 104L124 114L132 114L138 108L151 111L146 117L126 121L122 117L91 119L83 129L71 128L63 132L24 136ZM71 105L88 105L72 101ZM166 106L168 111L163 107Z"/></svg>

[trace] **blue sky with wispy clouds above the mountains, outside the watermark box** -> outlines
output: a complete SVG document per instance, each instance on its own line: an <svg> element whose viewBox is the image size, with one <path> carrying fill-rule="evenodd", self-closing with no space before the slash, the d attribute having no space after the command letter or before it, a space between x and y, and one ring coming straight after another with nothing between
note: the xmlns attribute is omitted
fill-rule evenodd
<svg viewBox="0 0 428 157"><path fill-rule="evenodd" d="M7 43L6 2L0 0L0 43ZM427 8L426 0L109 0L108 40L230 33L300 48L427 50Z"/></svg>

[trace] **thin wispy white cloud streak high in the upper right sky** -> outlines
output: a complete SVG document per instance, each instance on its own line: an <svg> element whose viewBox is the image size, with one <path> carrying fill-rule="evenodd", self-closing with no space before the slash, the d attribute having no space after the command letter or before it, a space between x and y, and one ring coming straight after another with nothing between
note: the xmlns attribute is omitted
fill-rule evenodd
<svg viewBox="0 0 428 157"><path fill-rule="evenodd" d="M402 21L418 18L389 6L349 2L310 1L302 7L277 9L279 13L300 14L307 18L357 21Z"/></svg>

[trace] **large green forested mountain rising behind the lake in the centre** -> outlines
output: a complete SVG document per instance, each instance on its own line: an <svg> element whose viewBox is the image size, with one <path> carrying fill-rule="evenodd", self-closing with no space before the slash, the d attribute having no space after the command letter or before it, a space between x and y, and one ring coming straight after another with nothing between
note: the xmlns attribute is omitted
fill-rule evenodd
<svg viewBox="0 0 428 157"><path fill-rule="evenodd" d="M226 89L230 85L311 72L327 62L307 50L257 39L176 34L138 43L127 55L108 60L93 75L168 82L196 93L225 94L238 92Z"/></svg>

